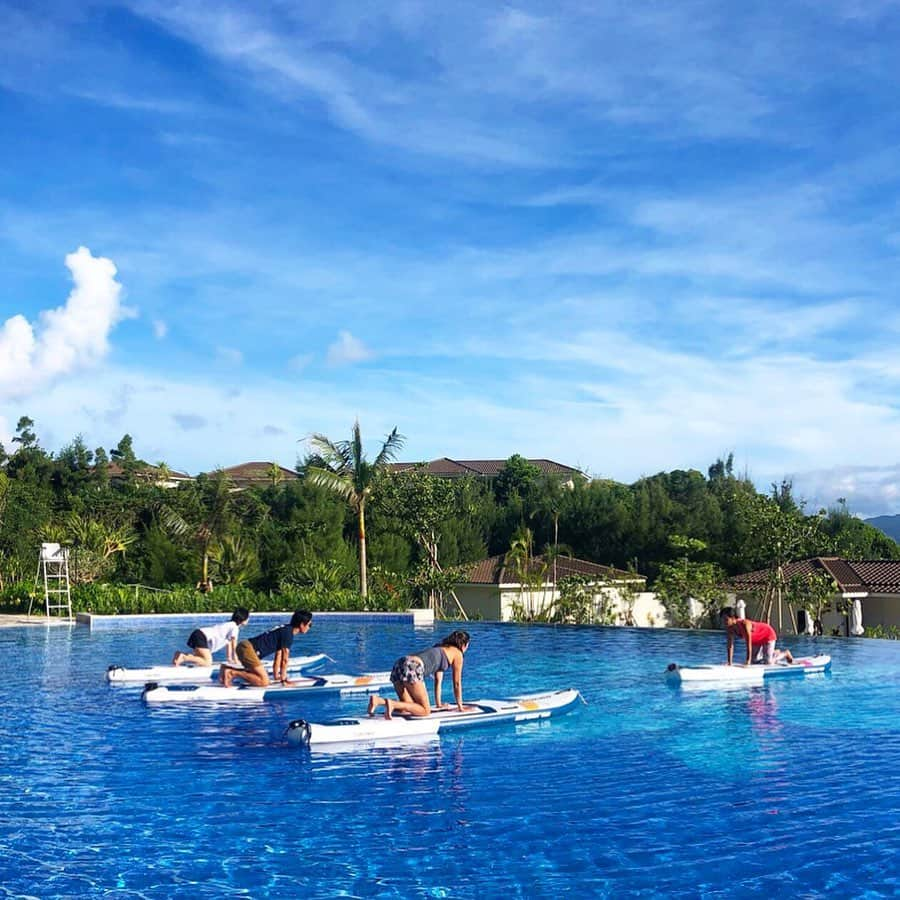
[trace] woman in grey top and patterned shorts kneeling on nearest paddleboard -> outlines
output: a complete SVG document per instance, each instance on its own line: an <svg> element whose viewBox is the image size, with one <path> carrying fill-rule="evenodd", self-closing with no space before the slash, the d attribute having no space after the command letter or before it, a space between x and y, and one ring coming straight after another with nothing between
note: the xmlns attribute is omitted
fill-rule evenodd
<svg viewBox="0 0 900 900"><path fill-rule="evenodd" d="M425 679L429 675L434 676L434 708L450 709L449 703L441 702L441 684L444 672L448 669L453 673L456 708L464 712L466 707L462 702L462 665L468 649L468 632L454 631L427 650L410 656L401 656L391 669L391 684L397 692L398 699L391 700L389 697L373 694L369 697L369 715L374 716L379 706L384 706L386 719L390 719L395 712L408 713L411 716L430 715L431 702L425 685Z"/></svg>

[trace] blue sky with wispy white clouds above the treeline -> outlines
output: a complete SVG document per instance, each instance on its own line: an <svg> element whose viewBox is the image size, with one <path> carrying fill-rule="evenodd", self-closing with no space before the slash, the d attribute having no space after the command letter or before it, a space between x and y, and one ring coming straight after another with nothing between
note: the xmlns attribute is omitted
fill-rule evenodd
<svg viewBox="0 0 900 900"><path fill-rule="evenodd" d="M75 7L0 0L7 446L900 513L896 3Z"/></svg>

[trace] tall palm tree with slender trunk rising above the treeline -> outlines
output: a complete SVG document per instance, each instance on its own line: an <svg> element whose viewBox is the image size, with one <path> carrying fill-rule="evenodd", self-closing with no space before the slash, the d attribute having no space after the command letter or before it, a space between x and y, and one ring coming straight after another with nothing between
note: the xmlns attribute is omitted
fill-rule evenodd
<svg viewBox="0 0 900 900"><path fill-rule="evenodd" d="M321 466L307 466L306 477L310 484L328 488L343 497L356 513L359 526L359 592L368 596L366 580L366 501L378 475L386 468L403 446L404 437L395 428L385 438L378 456L372 462L363 452L359 420L353 424L353 436L349 441L334 442L324 434L314 434L309 443Z"/></svg>

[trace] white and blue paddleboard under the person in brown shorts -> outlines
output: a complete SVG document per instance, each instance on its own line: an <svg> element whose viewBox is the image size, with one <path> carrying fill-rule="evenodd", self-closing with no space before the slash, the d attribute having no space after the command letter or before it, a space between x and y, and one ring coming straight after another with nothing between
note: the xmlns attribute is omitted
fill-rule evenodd
<svg viewBox="0 0 900 900"><path fill-rule="evenodd" d="M253 687L235 684L227 688L218 684L197 686L165 686L149 682L141 694L145 703L262 703L266 700L288 700L314 694L372 694L391 683L390 672L365 675L319 675L292 679L293 684L271 684Z"/></svg>

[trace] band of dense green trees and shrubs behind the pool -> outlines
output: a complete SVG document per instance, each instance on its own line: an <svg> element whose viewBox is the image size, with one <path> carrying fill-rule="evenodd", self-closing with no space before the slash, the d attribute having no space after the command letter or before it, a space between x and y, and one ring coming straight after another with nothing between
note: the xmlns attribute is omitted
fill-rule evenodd
<svg viewBox="0 0 900 900"><path fill-rule="evenodd" d="M22 416L10 455L0 451L0 591L15 592L34 578L38 547L52 534L72 549L78 580L176 585L190 594L211 577L214 601L227 586L261 597L299 591L359 603L351 575L361 562L358 510L346 502L349 495L318 483L316 468L339 480L348 476L353 492L368 502L375 604L423 603L432 591L447 595L442 585L454 583L454 567L507 552L526 525L534 547L568 546L582 559L634 566L682 621L687 596L718 602L711 587L717 577L777 570L816 555L900 559L900 546L843 501L806 515L789 481L759 493L734 473L730 456L713 463L708 477L685 469L630 485L596 479L569 488L518 455L493 482L388 471L385 463L399 446L396 432L374 460L362 452L358 426L350 441L332 446L337 455L320 447L299 480L281 480L281 470L272 469L260 487L235 490L213 475L164 489L154 483L159 479L141 477L146 463L128 435L110 451L116 463L110 466L107 451L89 450L80 436L56 455L47 452L35 423ZM165 474L166 466L158 470ZM672 540L679 535L683 541ZM529 548L527 555L535 554ZM552 554L543 552L541 560L524 570L524 583L540 581L535 599L549 601L552 591L544 585L553 581ZM578 619L577 609L545 614Z"/></svg>

